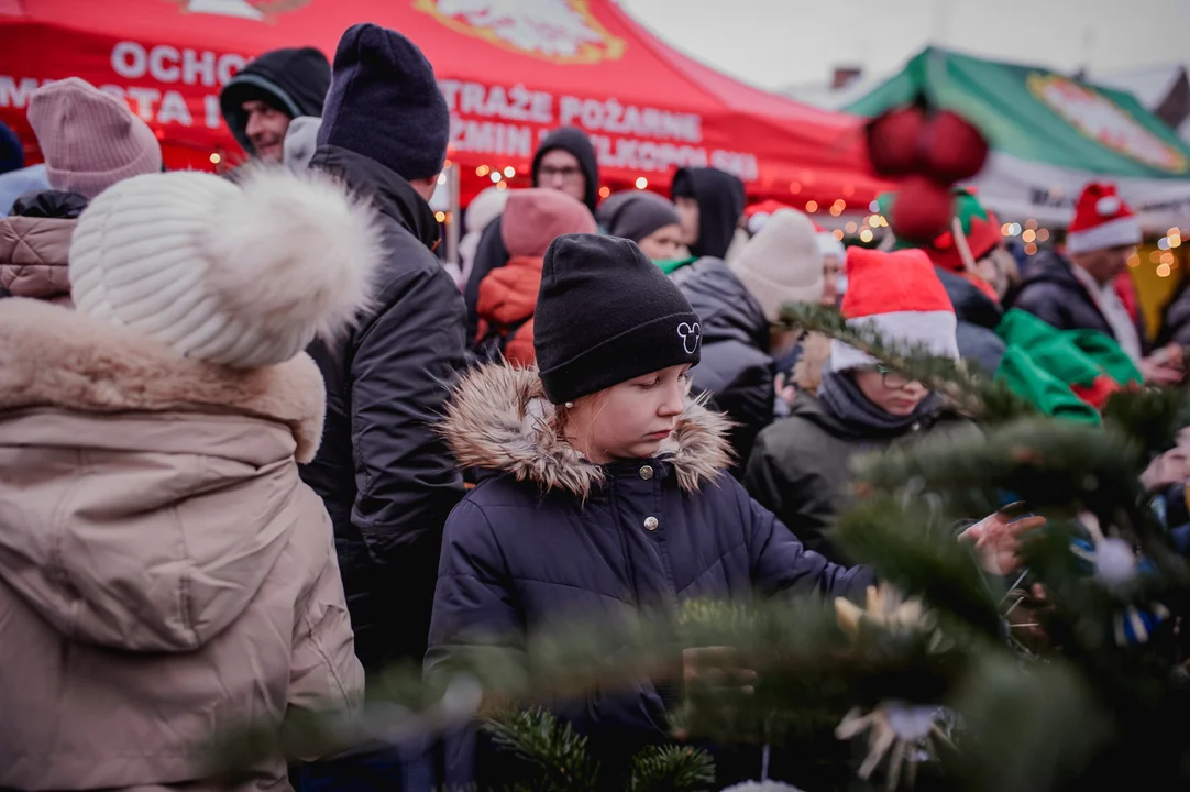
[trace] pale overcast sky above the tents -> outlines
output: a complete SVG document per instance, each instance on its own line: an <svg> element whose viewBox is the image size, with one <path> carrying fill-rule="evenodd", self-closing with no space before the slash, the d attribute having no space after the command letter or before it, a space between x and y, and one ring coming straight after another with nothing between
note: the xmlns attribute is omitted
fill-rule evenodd
<svg viewBox="0 0 1190 792"><path fill-rule="evenodd" d="M1091 74L1190 63L1190 0L619 0L671 44L766 88L896 69L927 42Z"/></svg>

